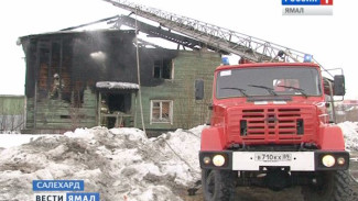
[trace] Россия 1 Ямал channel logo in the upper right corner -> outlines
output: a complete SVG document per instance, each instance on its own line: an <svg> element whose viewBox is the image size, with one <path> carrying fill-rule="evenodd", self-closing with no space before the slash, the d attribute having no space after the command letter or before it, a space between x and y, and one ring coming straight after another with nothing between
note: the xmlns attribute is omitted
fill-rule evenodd
<svg viewBox="0 0 358 201"><path fill-rule="evenodd" d="M333 0L281 0L282 15L333 15Z"/></svg>

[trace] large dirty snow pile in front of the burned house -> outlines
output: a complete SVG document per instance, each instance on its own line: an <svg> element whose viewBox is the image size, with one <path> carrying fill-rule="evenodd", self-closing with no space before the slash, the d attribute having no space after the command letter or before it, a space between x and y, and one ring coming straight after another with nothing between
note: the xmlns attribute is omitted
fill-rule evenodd
<svg viewBox="0 0 358 201"><path fill-rule="evenodd" d="M0 153L0 200L32 200L32 180L80 179L101 200L180 201L200 177L203 127L156 138L137 129L105 127L40 136Z"/></svg>

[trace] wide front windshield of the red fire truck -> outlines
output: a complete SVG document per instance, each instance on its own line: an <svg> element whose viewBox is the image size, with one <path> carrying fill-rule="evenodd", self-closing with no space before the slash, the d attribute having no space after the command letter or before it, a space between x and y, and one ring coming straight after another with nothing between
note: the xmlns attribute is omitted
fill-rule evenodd
<svg viewBox="0 0 358 201"><path fill-rule="evenodd" d="M225 69L217 74L216 97L321 96L317 69L262 67Z"/></svg>

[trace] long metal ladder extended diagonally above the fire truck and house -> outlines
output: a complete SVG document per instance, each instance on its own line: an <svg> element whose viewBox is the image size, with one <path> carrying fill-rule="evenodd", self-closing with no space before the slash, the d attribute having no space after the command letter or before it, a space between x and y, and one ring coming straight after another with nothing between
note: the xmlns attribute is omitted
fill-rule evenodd
<svg viewBox="0 0 358 201"><path fill-rule="evenodd" d="M279 52L285 53L294 62L303 62L304 53L270 43L253 36L241 34L228 29L213 25L206 22L181 16L174 13L162 11L132 3L128 0L104 0L115 7L131 11L132 13L159 23L170 30L195 38L208 46L223 52L232 53L252 62L264 62L276 58Z"/></svg>

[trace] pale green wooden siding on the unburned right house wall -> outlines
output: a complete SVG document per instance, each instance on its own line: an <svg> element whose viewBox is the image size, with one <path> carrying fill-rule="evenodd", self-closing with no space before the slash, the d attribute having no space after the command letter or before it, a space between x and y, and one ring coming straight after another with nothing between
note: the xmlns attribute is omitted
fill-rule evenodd
<svg viewBox="0 0 358 201"><path fill-rule="evenodd" d="M142 87L142 104L145 129L175 130L191 129L208 121L208 104L211 102L214 70L220 64L216 53L180 52L173 59L174 79L164 80L156 87ZM196 101L194 85L203 79L205 98ZM173 123L151 123L151 100L173 100ZM139 103L139 101L137 101ZM137 127L142 127L139 104L137 104Z"/></svg>

